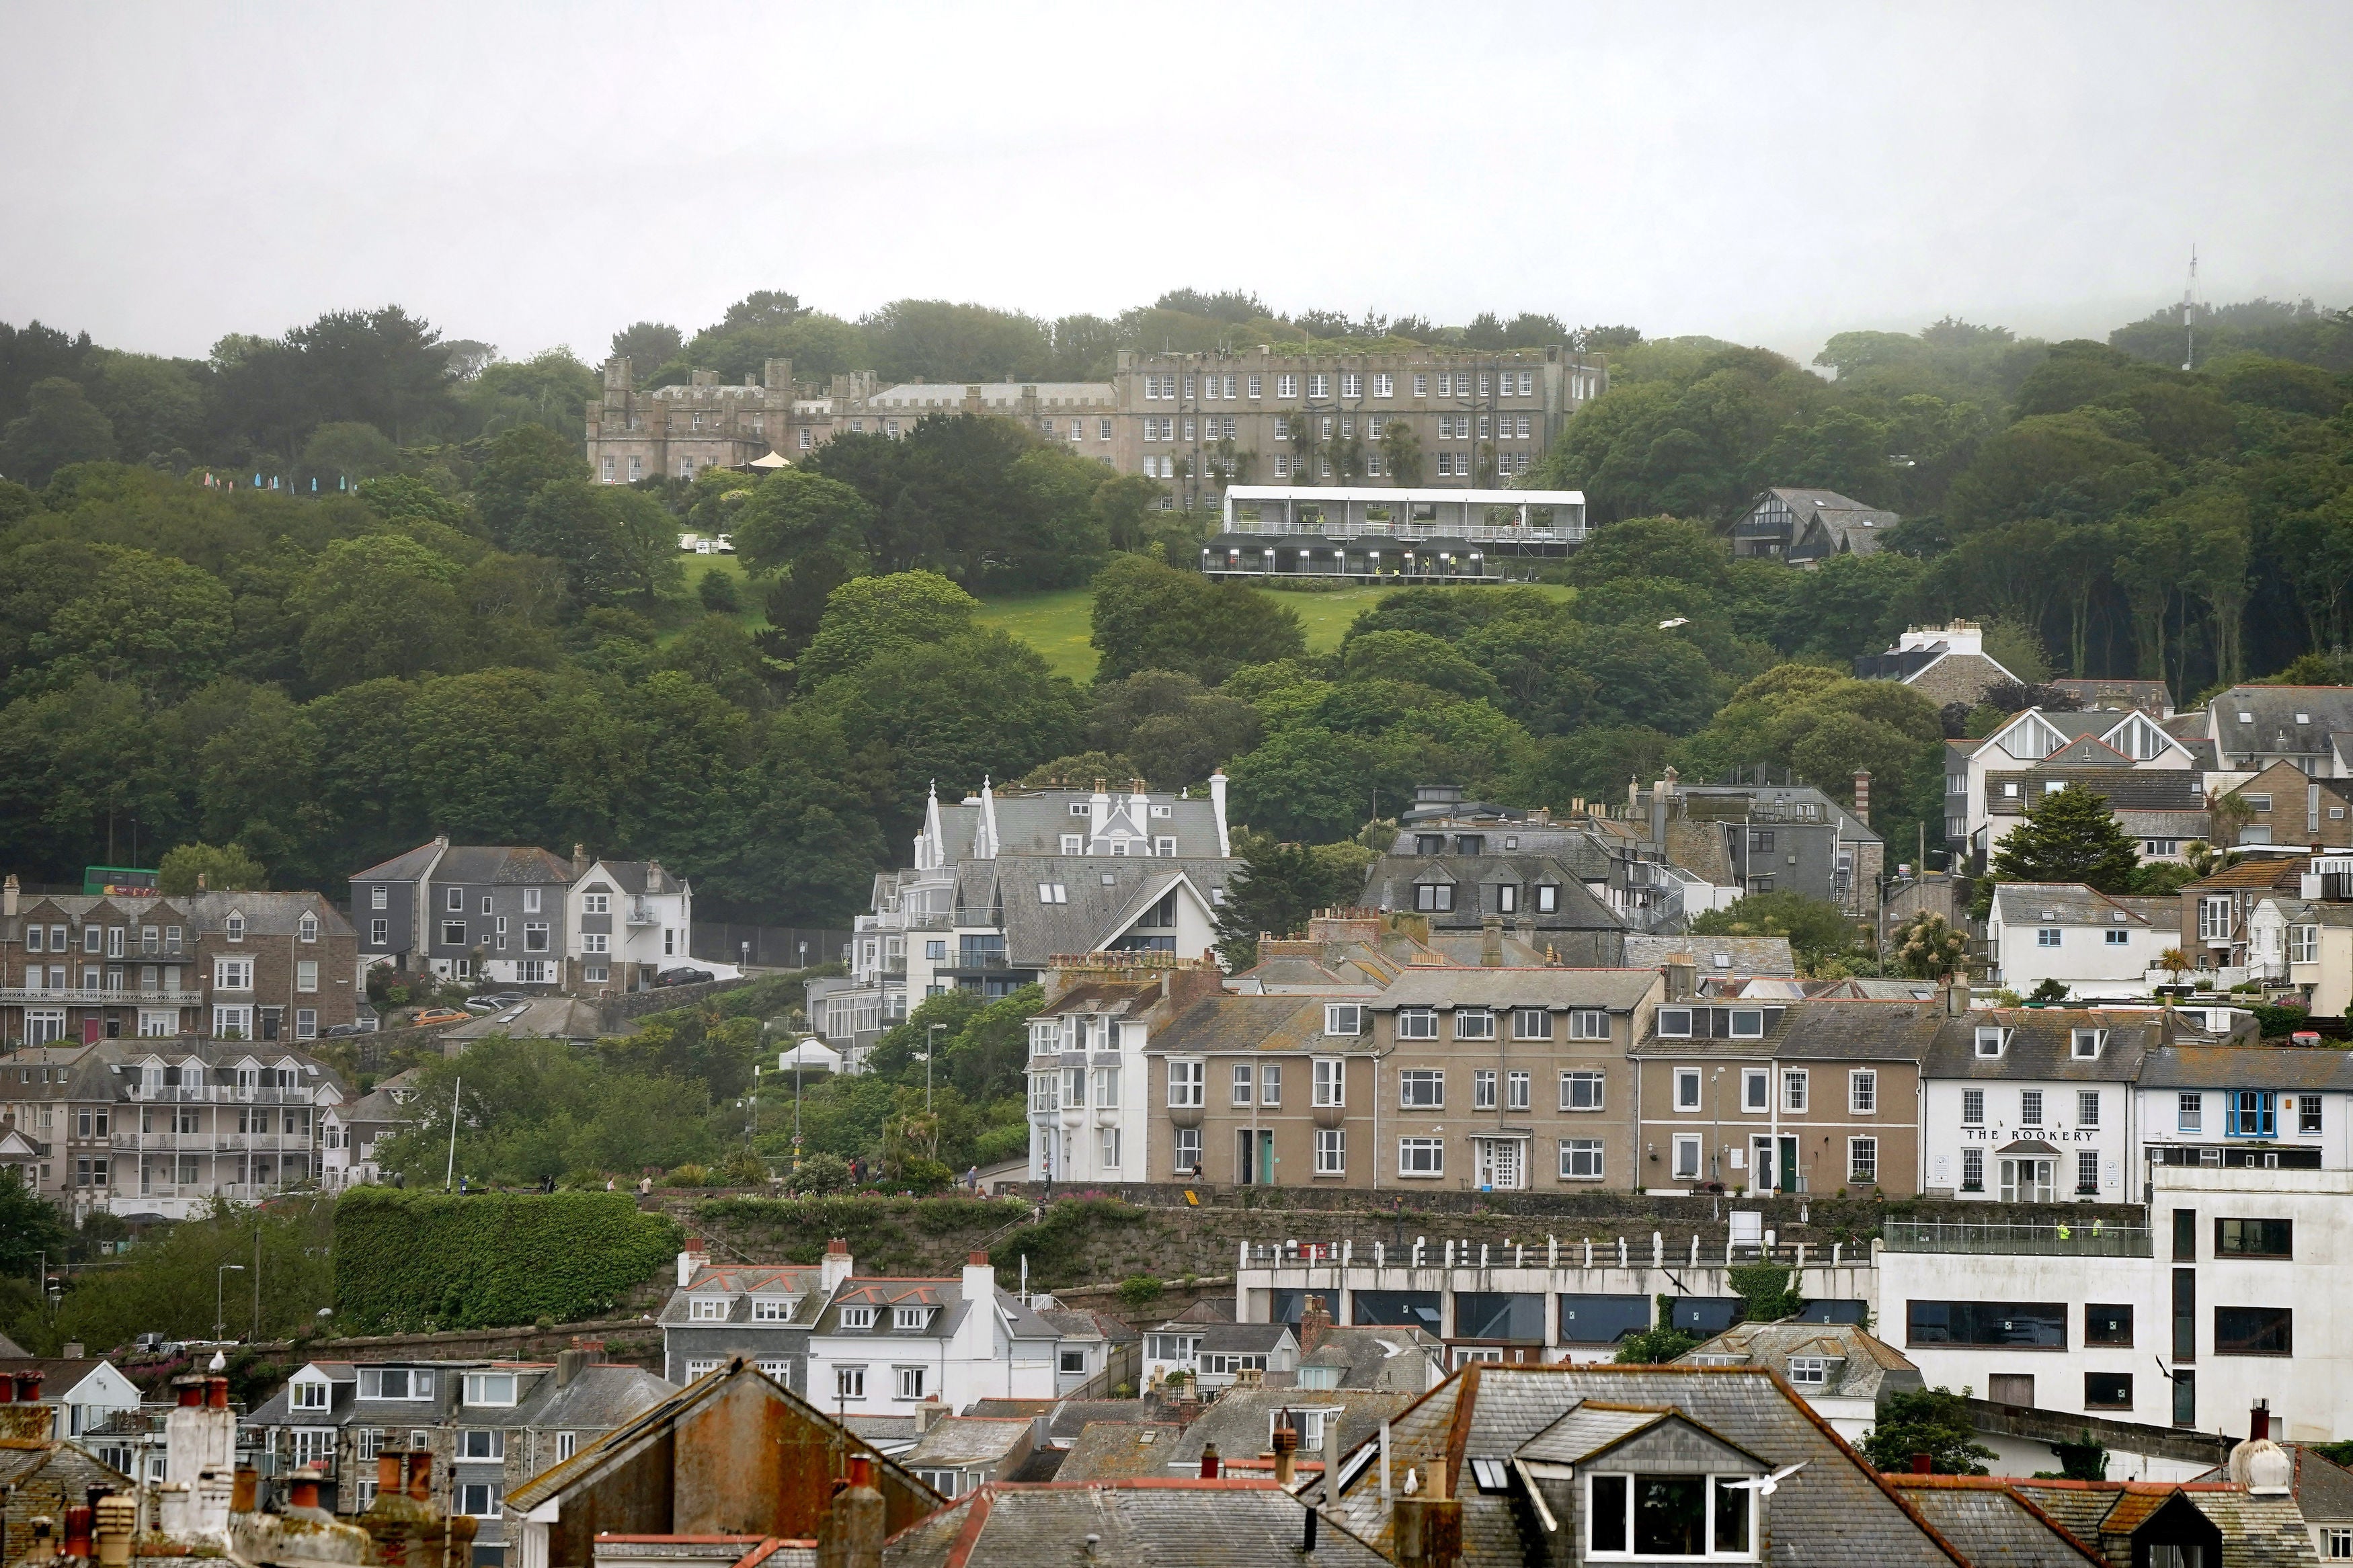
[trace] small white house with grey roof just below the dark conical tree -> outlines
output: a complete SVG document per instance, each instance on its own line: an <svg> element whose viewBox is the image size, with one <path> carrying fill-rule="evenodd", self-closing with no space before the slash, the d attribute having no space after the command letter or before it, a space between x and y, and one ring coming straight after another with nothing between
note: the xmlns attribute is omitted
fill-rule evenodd
<svg viewBox="0 0 2353 1568"><path fill-rule="evenodd" d="M1993 980L2021 997L2045 980L2075 1001L2148 997L2158 954L2181 945L2179 898L2113 898L2080 882L2002 882L1986 914Z"/></svg>

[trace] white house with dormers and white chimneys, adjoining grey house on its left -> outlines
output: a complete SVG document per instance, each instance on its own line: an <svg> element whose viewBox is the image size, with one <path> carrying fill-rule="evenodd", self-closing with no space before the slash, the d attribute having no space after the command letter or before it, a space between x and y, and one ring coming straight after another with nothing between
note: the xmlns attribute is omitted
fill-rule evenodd
<svg viewBox="0 0 2353 1568"><path fill-rule="evenodd" d="M1056 1328L1021 1298L998 1291L988 1253L955 1279L847 1274L849 1253L809 1333L809 1401L842 1415L908 1415L936 1401L1054 1399Z"/></svg>

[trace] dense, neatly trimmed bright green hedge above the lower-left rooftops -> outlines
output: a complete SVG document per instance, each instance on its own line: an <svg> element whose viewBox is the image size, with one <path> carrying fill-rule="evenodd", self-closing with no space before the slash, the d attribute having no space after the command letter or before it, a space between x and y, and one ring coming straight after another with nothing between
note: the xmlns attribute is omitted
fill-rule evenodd
<svg viewBox="0 0 2353 1568"><path fill-rule="evenodd" d="M621 1192L398 1192L334 1206L344 1333L506 1328L612 1309L678 1253L678 1225Z"/></svg>

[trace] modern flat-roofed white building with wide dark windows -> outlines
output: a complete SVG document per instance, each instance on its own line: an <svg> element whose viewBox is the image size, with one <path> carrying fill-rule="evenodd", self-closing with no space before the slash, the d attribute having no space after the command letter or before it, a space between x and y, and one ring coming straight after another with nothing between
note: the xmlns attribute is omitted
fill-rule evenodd
<svg viewBox="0 0 2353 1568"><path fill-rule="evenodd" d="M1892 1225L1882 1333L1929 1387L2002 1403L2245 1432L2268 1401L2287 1441L2353 1436L2353 1173L2151 1161L2148 1178L2148 1229Z"/></svg>

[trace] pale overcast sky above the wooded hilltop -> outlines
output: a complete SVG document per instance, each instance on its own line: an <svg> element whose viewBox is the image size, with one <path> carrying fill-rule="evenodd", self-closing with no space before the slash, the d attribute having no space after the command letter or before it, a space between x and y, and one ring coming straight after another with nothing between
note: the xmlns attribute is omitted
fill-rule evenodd
<svg viewBox="0 0 2353 1568"><path fill-rule="evenodd" d="M1169 287L1809 357L2353 303L2353 5L0 0L0 320L202 355L398 301L511 357L751 289Z"/></svg>

